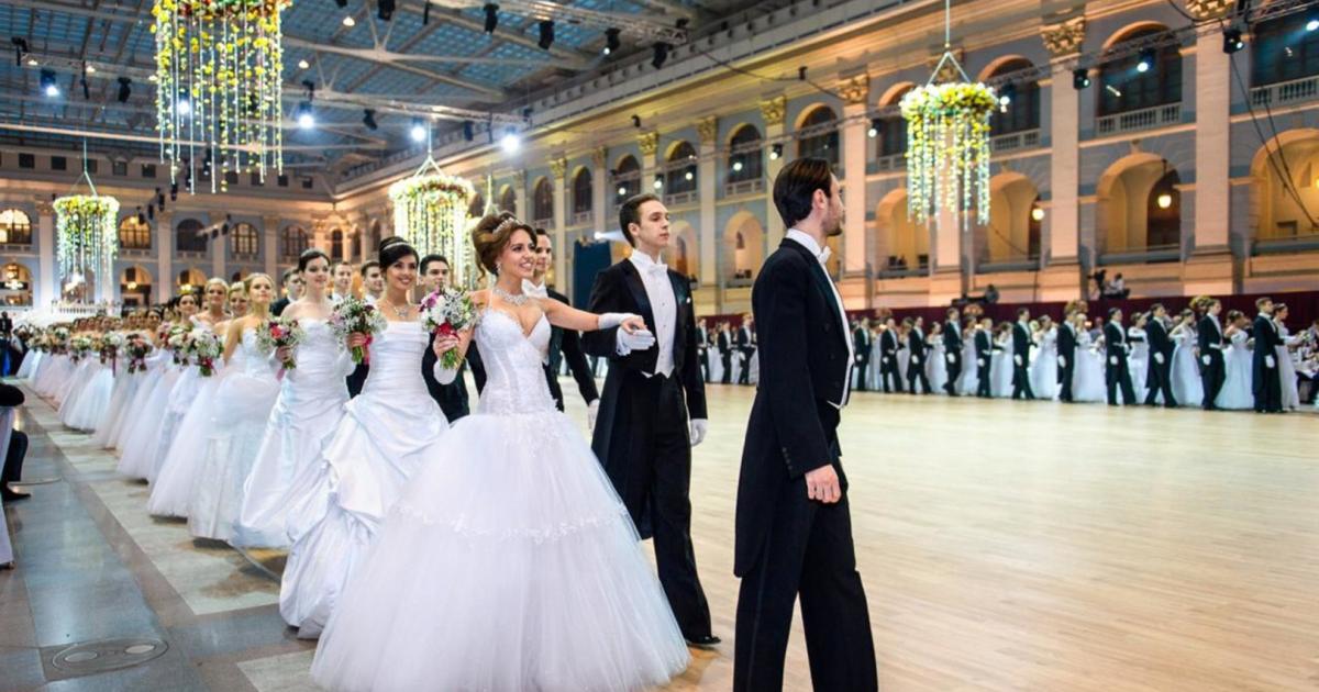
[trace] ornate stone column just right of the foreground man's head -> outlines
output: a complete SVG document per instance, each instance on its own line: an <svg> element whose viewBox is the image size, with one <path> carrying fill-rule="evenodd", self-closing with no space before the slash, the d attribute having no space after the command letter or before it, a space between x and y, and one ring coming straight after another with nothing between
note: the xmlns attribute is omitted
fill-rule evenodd
<svg viewBox="0 0 1319 692"><path fill-rule="evenodd" d="M871 78L861 74L839 86L843 96L843 273L865 273L865 149L869 138L865 117L871 99Z"/></svg>

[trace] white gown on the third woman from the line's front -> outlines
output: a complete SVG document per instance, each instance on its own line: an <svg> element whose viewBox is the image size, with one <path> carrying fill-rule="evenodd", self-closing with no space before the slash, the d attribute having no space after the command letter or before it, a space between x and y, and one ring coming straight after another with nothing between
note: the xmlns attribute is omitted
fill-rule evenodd
<svg viewBox="0 0 1319 692"><path fill-rule="evenodd" d="M334 435L343 405L344 381L353 362L324 320L301 319L305 333L285 370L280 394L262 426L261 446L243 484L239 522L230 542L244 547L293 544L289 510L298 504L295 488L310 492L319 481L317 461ZM298 482L301 480L301 482ZM319 519L319 513L310 518Z"/></svg>

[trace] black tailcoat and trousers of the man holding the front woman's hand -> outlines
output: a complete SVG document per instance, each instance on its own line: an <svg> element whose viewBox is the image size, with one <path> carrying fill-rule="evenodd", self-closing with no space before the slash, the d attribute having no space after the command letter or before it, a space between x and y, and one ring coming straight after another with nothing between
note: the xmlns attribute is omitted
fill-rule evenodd
<svg viewBox="0 0 1319 692"><path fill-rule="evenodd" d="M708 637L710 605L691 547L691 440L687 422L706 418L706 384L696 362L696 316L687 281L669 270L677 319L673 373L653 374L660 348L617 355L619 328L583 335L592 356L609 359L591 448L613 481L637 531L654 536L660 584L687 639ZM590 311L641 315L658 337L654 311L636 265L624 260L600 274Z"/></svg>

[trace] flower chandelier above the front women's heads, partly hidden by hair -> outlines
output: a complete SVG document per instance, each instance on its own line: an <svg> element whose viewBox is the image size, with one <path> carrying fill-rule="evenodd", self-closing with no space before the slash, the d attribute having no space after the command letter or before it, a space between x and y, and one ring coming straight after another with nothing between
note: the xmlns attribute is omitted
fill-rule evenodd
<svg viewBox="0 0 1319 692"><path fill-rule="evenodd" d="M471 283L475 266L467 237L467 206L475 196L472 183L463 178L433 173L413 175L389 186L394 203L394 232L408 239L422 256L443 254L451 275Z"/></svg>

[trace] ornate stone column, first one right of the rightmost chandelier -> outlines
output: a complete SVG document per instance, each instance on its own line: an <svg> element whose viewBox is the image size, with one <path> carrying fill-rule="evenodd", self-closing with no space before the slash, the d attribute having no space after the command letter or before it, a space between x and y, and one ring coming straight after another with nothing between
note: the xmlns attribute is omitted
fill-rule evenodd
<svg viewBox="0 0 1319 692"><path fill-rule="evenodd" d="M1045 204L1049 256L1041 272L1041 298L1067 301L1082 290L1080 270L1080 96L1059 63L1080 53L1086 17L1072 17L1041 29L1051 57L1049 83L1050 199Z"/></svg>

